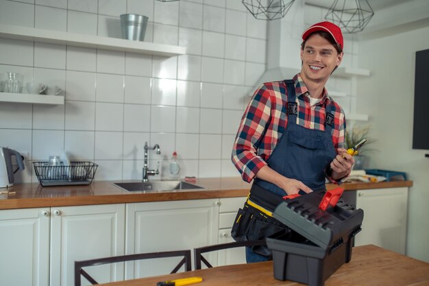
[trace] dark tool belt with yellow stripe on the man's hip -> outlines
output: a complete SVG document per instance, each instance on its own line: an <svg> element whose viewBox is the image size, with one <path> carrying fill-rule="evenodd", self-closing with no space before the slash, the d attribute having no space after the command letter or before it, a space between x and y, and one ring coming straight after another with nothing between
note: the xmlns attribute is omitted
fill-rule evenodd
<svg viewBox="0 0 429 286"><path fill-rule="evenodd" d="M273 211L280 202L280 195L253 184L243 208L238 209L232 226L232 238L235 241L256 241L282 230L289 231L287 226L273 218ZM271 255L268 248L254 252L267 257Z"/></svg>

